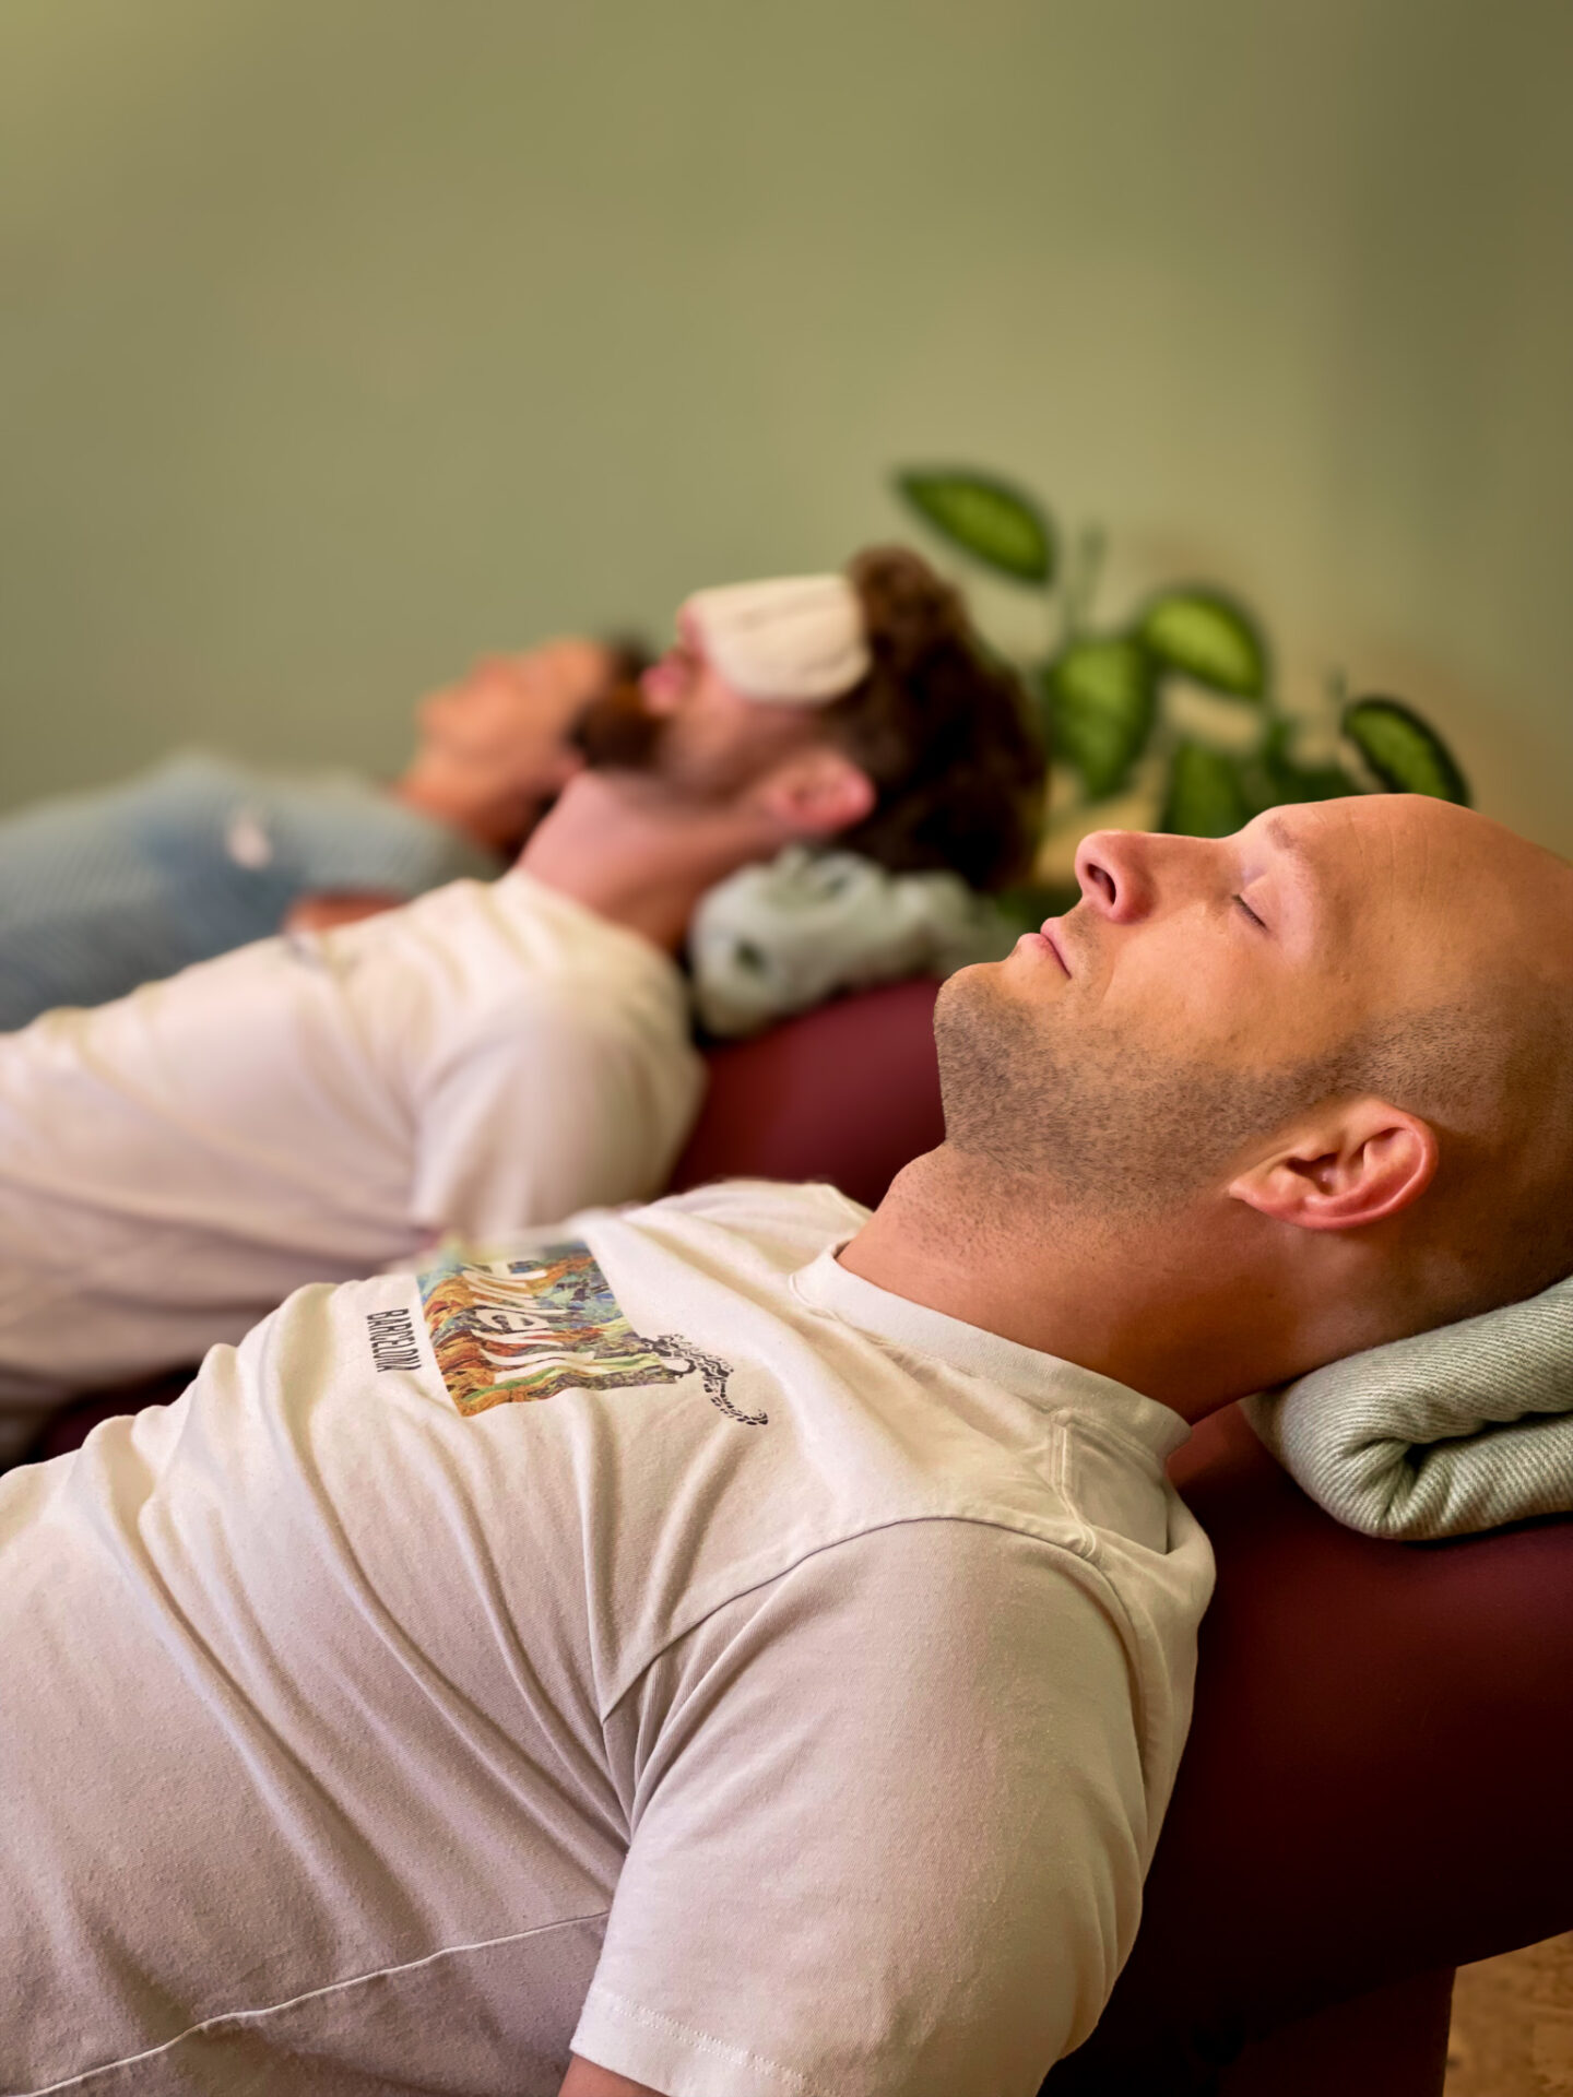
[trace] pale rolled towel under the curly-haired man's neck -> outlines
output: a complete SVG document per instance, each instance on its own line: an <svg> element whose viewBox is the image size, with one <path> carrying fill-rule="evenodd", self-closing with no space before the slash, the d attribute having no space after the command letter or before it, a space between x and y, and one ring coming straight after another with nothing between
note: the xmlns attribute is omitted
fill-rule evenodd
<svg viewBox="0 0 1573 2097"><path fill-rule="evenodd" d="M1017 933L956 874L889 874L854 851L789 845L694 912L694 1007L711 1034L757 1034L839 990L998 960Z"/></svg>

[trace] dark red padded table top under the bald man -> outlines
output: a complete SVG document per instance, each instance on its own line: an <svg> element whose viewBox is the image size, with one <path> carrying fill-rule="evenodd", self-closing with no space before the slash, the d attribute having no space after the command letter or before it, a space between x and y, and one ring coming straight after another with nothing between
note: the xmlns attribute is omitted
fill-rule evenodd
<svg viewBox="0 0 1573 2097"><path fill-rule="evenodd" d="M1359 1537L1235 1407L1170 1470L1219 1558L1195 1720L1137 1948L1047 2097L1168 2097L1323 2003L1573 1927L1573 1520Z"/></svg>

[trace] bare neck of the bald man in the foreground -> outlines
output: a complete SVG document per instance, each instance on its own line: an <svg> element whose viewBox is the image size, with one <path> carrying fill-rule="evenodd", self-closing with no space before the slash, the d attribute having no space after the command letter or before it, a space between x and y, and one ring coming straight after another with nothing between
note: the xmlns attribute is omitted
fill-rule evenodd
<svg viewBox="0 0 1573 2097"><path fill-rule="evenodd" d="M1365 1248L1307 1235L1227 1197L1089 1216L946 1143L898 1174L841 1264L1202 1420L1430 1323L1372 1302Z"/></svg>

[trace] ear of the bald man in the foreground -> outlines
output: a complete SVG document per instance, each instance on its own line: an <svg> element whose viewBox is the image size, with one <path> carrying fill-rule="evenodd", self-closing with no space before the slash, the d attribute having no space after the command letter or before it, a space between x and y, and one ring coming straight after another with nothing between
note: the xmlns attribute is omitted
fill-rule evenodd
<svg viewBox="0 0 1573 2097"><path fill-rule="evenodd" d="M1302 1231L1353 1231L1418 1202L1435 1172L1428 1122L1384 1099L1355 1099L1300 1122L1229 1193Z"/></svg>

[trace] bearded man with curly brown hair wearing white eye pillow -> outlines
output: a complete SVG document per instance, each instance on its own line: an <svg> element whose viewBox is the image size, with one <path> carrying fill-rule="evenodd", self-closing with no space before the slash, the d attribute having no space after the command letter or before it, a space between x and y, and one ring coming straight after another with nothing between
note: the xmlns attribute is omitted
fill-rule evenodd
<svg viewBox="0 0 1573 2097"><path fill-rule="evenodd" d="M837 841L988 889L1032 858L1021 690L902 547L696 591L575 736L499 881L0 1034L0 1462L304 1281L659 1193L703 1090L675 954L738 868Z"/></svg>

